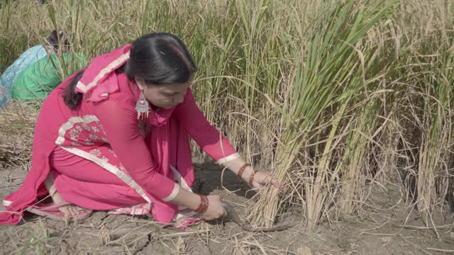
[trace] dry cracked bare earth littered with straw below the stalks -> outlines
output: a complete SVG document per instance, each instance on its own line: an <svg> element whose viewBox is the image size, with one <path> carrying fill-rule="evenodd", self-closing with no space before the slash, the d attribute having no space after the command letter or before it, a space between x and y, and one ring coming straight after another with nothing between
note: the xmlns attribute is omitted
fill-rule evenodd
<svg viewBox="0 0 454 255"><path fill-rule="evenodd" d="M244 183L226 171L222 187L219 166L194 166L194 190L220 195L243 217L245 196L253 195L245 192ZM0 197L15 191L25 175L19 168L0 170ZM0 254L454 254L453 215L436 215L433 223L441 226L436 233L409 214L401 198L397 188L376 191L361 217L343 215L315 232L301 224L297 212L283 217L297 226L268 233L245 232L228 220L177 231L161 229L145 216L95 212L78 224L66 224L28 215L21 225L0 226Z"/></svg>

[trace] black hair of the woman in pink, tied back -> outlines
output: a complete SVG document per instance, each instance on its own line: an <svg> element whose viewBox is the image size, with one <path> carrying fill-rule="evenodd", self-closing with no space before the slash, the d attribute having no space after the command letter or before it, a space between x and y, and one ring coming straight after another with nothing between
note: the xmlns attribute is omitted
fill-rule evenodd
<svg viewBox="0 0 454 255"><path fill-rule="evenodd" d="M135 40L129 60L116 70L124 72L131 81L142 79L148 86L184 83L196 71L186 45L170 33L152 33ZM71 109L77 108L82 100L82 94L74 92L82 73L70 81L64 95L65 103Z"/></svg>

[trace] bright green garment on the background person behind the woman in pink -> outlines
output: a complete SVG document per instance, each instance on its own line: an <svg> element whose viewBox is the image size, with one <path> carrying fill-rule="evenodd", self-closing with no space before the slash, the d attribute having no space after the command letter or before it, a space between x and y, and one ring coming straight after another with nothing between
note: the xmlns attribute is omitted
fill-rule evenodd
<svg viewBox="0 0 454 255"><path fill-rule="evenodd" d="M14 79L11 98L22 101L44 100L62 82L62 69L67 70L66 77L69 77L73 71L84 66L82 54L74 57L72 53L65 52L60 58L55 54L43 57L23 69Z"/></svg>

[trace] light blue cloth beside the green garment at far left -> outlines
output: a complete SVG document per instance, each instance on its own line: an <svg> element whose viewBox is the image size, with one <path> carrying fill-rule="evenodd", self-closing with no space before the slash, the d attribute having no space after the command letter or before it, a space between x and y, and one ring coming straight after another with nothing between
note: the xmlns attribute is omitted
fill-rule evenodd
<svg viewBox="0 0 454 255"><path fill-rule="evenodd" d="M16 76L34 62L42 59L48 53L43 45L36 45L23 52L16 61L6 68L0 77L0 108L4 108L6 102L11 98L11 86Z"/></svg>

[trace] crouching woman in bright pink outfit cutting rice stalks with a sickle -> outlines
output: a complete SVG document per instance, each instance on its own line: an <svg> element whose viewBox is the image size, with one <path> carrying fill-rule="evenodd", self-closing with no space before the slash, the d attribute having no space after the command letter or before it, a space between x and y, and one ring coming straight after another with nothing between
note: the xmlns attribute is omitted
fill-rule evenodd
<svg viewBox="0 0 454 255"><path fill-rule="evenodd" d="M55 218L92 210L151 212L172 222L182 208L204 220L226 214L218 196L192 193L190 135L218 164L253 187L280 183L254 171L206 120L190 89L196 65L175 35L153 33L96 57L43 103L32 167L4 198L1 224L25 210ZM43 203L50 195L51 203Z"/></svg>

